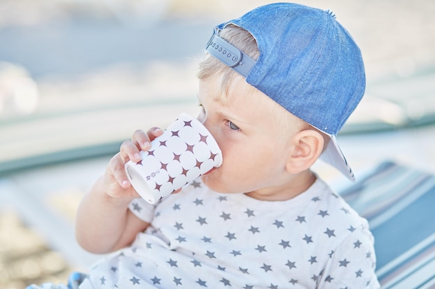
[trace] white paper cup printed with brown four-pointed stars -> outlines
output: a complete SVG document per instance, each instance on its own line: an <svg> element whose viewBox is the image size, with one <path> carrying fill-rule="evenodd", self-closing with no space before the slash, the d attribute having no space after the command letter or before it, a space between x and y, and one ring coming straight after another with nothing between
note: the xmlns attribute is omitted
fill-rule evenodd
<svg viewBox="0 0 435 289"><path fill-rule="evenodd" d="M181 114L140 156L142 161L127 162L125 171L133 188L151 204L222 164L222 152L211 133L187 114Z"/></svg>

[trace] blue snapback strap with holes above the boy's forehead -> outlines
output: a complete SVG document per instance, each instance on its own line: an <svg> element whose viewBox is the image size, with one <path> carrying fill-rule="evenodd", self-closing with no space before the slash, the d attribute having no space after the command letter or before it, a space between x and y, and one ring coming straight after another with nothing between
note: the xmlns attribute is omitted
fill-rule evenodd
<svg viewBox="0 0 435 289"><path fill-rule="evenodd" d="M219 32L220 29L215 27L213 35L208 40L206 51L246 78L256 61L217 36Z"/></svg>

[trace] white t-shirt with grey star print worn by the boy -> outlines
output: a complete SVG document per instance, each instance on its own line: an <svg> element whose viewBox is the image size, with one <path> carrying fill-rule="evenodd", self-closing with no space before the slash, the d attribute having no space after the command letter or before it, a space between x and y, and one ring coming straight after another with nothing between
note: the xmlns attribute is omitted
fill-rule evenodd
<svg viewBox="0 0 435 289"><path fill-rule="evenodd" d="M80 288L379 288L368 223L321 179L284 202L197 179L130 209L151 225Z"/></svg>

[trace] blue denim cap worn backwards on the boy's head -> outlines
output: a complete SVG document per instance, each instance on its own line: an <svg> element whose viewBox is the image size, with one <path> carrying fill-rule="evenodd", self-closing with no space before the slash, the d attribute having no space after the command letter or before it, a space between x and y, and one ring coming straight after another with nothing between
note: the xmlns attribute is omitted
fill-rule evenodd
<svg viewBox="0 0 435 289"><path fill-rule="evenodd" d="M260 55L253 60L219 37L228 24L247 30ZM295 3L258 7L215 28L206 51L247 83L331 137L321 158L354 180L336 134L363 97L359 47L329 11Z"/></svg>

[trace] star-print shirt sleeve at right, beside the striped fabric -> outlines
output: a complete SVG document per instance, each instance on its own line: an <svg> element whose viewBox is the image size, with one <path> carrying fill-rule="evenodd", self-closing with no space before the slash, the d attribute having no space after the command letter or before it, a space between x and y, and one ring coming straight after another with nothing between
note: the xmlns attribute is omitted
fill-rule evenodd
<svg viewBox="0 0 435 289"><path fill-rule="evenodd" d="M378 289L373 236L367 227L354 229L331 254L318 288Z"/></svg>

